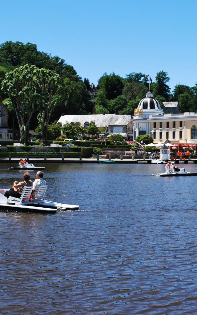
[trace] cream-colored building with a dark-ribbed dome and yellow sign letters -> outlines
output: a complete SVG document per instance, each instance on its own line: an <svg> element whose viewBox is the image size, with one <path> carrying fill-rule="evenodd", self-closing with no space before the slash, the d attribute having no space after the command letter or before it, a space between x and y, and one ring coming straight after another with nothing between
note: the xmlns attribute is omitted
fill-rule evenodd
<svg viewBox="0 0 197 315"><path fill-rule="evenodd" d="M134 140L138 135L149 134L154 142L197 142L197 113L164 114L159 102L150 91L140 101L133 117Z"/></svg>

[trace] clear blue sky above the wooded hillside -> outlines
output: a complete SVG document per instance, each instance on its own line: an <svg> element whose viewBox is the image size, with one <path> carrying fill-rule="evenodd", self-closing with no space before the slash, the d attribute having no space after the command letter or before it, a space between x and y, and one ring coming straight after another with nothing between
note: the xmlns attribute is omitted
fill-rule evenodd
<svg viewBox="0 0 197 315"><path fill-rule="evenodd" d="M164 70L176 84L197 83L197 1L2 1L0 43L37 44L97 84L104 72Z"/></svg>

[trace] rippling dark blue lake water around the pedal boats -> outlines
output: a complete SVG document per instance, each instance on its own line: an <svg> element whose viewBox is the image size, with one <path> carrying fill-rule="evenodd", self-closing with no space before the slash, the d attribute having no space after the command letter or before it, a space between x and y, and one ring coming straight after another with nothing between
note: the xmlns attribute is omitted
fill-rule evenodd
<svg viewBox="0 0 197 315"><path fill-rule="evenodd" d="M0 188L22 179L10 166ZM197 177L151 176L163 164L39 166L46 199L80 207L0 212L1 314L197 314Z"/></svg>

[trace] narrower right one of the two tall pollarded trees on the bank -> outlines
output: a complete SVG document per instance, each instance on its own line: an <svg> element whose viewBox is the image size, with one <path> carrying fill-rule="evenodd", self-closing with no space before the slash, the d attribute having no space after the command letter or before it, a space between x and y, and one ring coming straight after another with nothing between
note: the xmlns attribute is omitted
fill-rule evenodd
<svg viewBox="0 0 197 315"><path fill-rule="evenodd" d="M57 106L60 95L58 91L61 88L61 78L54 71L47 69L38 69L38 120L41 124L41 133L43 144L46 144L47 131L51 114Z"/></svg>

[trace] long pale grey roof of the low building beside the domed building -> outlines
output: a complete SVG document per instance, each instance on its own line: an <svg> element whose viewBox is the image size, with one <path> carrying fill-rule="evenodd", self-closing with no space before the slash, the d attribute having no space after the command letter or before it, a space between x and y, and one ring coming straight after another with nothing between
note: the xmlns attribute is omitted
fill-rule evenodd
<svg viewBox="0 0 197 315"><path fill-rule="evenodd" d="M109 125L127 125L131 120L130 115L116 115L116 114L95 114L95 115L64 115L58 120L63 126L65 123L79 122L84 125L85 122L94 121L97 127L105 127Z"/></svg>

